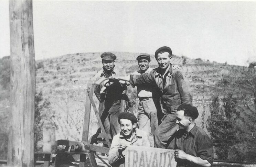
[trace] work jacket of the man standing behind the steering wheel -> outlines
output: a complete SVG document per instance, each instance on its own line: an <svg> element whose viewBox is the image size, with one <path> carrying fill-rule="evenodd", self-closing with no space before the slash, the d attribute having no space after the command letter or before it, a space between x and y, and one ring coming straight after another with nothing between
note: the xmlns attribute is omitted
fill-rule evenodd
<svg viewBox="0 0 256 167"><path fill-rule="evenodd" d="M93 82L99 80L100 78L104 77L104 78L108 78L108 77L112 77L112 76L126 76L126 72L124 69L120 69L114 66L113 70L111 70L110 74L107 74L105 72L105 69L102 68L102 70L100 70L95 77L92 79ZM105 80L104 82L97 84L94 86L94 93L97 97L97 99L99 101L104 101L104 100L108 100L108 101L114 101L114 100L118 100L121 98L121 94L123 93L124 90L126 90L126 85L127 82L125 84L119 84L119 83L114 83L110 86L107 87L107 89L105 90L106 93L102 93L102 95L100 94L100 89L102 89L102 87L104 86L104 84L106 84L107 80Z"/></svg>

